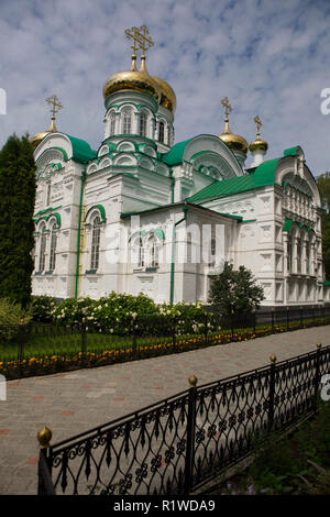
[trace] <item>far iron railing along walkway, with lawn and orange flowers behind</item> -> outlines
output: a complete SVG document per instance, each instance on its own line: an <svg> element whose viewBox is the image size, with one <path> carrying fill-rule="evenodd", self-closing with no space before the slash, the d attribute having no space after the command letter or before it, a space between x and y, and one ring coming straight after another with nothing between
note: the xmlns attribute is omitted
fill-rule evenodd
<svg viewBox="0 0 330 517"><path fill-rule="evenodd" d="M226 318L207 310L194 318L140 315L123 320L117 334L87 320L0 326L0 373L18 378L114 364L329 323L330 307L319 306L263 309Z"/></svg>

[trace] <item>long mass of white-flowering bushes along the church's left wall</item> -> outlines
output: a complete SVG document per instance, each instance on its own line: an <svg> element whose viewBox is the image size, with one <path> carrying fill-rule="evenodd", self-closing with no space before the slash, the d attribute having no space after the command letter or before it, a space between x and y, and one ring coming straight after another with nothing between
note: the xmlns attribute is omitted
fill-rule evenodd
<svg viewBox="0 0 330 517"><path fill-rule="evenodd" d="M68 298L56 304L55 298L34 297L34 321L77 324L84 320L88 331L117 336L169 336L175 328L178 336L204 333L205 309L200 301L155 304L148 296L111 293L98 300L88 297ZM209 330L216 330L208 320ZM175 326L175 327L173 327ZM217 329L218 330L218 329Z"/></svg>

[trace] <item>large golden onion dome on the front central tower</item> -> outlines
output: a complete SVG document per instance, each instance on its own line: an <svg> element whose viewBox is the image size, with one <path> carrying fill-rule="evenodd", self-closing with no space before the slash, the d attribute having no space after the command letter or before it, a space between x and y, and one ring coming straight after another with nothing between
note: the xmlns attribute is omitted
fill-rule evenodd
<svg viewBox="0 0 330 517"><path fill-rule="evenodd" d="M144 56L141 57L142 64L140 70L135 65L136 56L132 56L132 67L127 72L113 74L103 86L103 98L107 99L117 91L141 91L153 97L157 102L161 100L162 91L158 82L148 75Z"/></svg>

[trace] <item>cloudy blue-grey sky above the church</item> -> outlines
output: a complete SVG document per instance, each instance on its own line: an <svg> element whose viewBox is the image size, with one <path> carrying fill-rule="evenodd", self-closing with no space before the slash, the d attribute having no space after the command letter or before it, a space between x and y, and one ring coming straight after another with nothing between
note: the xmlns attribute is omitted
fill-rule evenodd
<svg viewBox="0 0 330 517"><path fill-rule="evenodd" d="M0 145L45 131L56 94L58 130L98 148L103 82L130 67L124 30L142 24L155 43L147 69L176 92L176 142L221 133L227 96L248 142L261 117L268 158L299 144L315 175L330 169L328 0L0 0Z"/></svg>

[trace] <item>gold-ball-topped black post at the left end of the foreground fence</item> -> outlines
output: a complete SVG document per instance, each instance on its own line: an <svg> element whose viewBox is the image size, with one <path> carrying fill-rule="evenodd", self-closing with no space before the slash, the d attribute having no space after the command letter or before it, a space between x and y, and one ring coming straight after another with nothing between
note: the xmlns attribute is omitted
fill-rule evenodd
<svg viewBox="0 0 330 517"><path fill-rule="evenodd" d="M50 462L48 449L51 447L52 431L44 427L37 433L40 457L37 463L37 495L56 495L52 482L52 465Z"/></svg>

